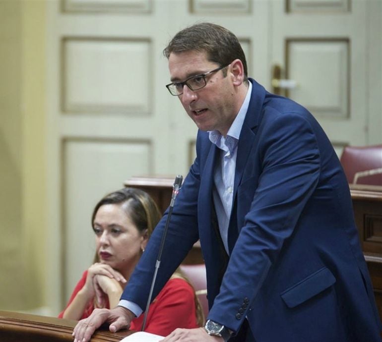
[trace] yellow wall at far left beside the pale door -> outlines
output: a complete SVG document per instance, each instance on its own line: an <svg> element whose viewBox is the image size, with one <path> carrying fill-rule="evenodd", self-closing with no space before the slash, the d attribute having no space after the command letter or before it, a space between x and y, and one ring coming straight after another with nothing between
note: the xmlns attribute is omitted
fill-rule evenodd
<svg viewBox="0 0 382 342"><path fill-rule="evenodd" d="M0 309L46 305L45 2L0 1Z"/></svg>

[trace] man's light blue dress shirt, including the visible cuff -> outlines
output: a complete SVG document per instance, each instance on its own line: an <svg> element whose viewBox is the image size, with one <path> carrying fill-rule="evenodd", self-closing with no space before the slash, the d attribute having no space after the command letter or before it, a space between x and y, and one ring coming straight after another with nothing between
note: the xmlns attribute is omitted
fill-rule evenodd
<svg viewBox="0 0 382 342"><path fill-rule="evenodd" d="M224 138L218 131L209 131L209 140L221 150L219 163L214 171L215 188L213 190L213 200L220 234L228 254L228 225L232 210L238 142L240 131L242 130L243 122L250 104L252 92L252 83L248 83L249 88L247 96L238 115L228 130L227 136ZM118 306L127 308L136 317L140 316L143 312L143 309L137 304L126 299L120 300Z"/></svg>

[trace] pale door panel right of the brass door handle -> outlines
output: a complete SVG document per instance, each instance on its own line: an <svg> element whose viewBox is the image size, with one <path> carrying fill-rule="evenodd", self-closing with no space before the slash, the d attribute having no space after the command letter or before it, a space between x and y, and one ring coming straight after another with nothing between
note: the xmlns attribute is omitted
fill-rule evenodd
<svg viewBox="0 0 382 342"><path fill-rule="evenodd" d="M300 39L286 42L286 78L297 87L287 96L315 116L349 116L349 41Z"/></svg>

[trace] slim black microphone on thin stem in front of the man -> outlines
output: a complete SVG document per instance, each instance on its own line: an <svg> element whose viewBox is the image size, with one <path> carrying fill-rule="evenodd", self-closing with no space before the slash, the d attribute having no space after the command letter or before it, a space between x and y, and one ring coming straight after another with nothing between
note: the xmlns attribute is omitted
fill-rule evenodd
<svg viewBox="0 0 382 342"><path fill-rule="evenodd" d="M153 276L153 278L152 278L152 282L151 282L150 293L149 293L149 295L148 295L148 299L147 299L146 310L145 310L145 312L144 312L143 324L142 324L142 329L141 329L141 331L144 331L144 328L146 327L146 319L147 319L148 308L149 308L149 306L150 306L150 302L151 302L151 297L152 297L152 293L153 293L153 290L154 290L154 285L155 285L156 276L157 276L157 274L158 274L158 269L159 269L159 267L160 267L160 263L161 263L162 251L163 251L163 247L164 247L164 244L165 244L165 241L166 241L167 230L168 230L168 228L169 228L170 218L171 218L171 215L172 215L172 213L173 213L175 200L177 199L179 190L180 190L181 187L182 187L182 183L183 183L183 176L182 176L181 174L178 174L178 175L175 177L175 181L174 181L174 185L173 185L173 193L172 193L172 195L171 195L171 202L170 202L170 207L169 207L169 213L168 213L168 215L167 215L166 225L165 225L165 228L164 228L164 230L163 230L162 240L161 240L161 244L160 244L160 247L159 247L159 252L158 252L157 261L156 261L156 263L155 263L154 276Z"/></svg>

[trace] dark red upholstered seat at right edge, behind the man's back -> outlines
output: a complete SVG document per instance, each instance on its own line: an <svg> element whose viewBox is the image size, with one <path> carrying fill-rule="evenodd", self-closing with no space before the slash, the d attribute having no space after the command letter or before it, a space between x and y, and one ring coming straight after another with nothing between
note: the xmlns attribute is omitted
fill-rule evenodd
<svg viewBox="0 0 382 342"><path fill-rule="evenodd" d="M382 145L346 146L340 161L349 184L382 185Z"/></svg>

